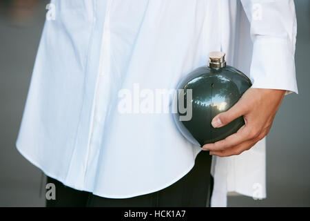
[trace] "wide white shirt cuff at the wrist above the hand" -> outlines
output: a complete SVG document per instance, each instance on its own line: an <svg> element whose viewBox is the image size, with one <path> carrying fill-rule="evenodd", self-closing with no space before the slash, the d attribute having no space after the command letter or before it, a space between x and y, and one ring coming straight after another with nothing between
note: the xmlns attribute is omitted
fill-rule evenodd
<svg viewBox="0 0 310 221"><path fill-rule="evenodd" d="M285 95L298 94L291 42L278 37L257 36L249 77L252 88L286 90Z"/></svg>

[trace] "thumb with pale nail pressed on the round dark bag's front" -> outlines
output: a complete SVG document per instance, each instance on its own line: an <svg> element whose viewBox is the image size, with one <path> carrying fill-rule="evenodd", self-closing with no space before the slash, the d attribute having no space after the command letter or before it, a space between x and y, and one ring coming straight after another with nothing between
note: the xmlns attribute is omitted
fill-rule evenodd
<svg viewBox="0 0 310 221"><path fill-rule="evenodd" d="M240 104L240 102L237 102L234 106L232 106L228 111L219 113L212 119L212 126L214 128L218 128L221 126L225 126L226 124L229 124L234 119L242 116L246 112L246 106Z"/></svg>

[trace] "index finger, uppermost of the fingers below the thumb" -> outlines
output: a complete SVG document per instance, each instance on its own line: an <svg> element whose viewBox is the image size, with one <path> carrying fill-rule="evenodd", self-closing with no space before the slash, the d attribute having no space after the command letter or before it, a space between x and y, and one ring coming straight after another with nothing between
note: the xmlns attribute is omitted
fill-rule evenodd
<svg viewBox="0 0 310 221"><path fill-rule="evenodd" d="M245 142L247 140L251 140L254 138L255 135L251 135L248 131L248 127L246 125L243 125L240 127L240 129L237 131L237 133L234 133L232 135L229 135L224 140L220 140L218 142L215 142L213 144L205 144L203 146L203 150L205 151L225 151L227 148L231 148L232 146L236 146L238 144L241 144L242 142Z"/></svg>

